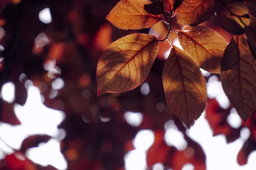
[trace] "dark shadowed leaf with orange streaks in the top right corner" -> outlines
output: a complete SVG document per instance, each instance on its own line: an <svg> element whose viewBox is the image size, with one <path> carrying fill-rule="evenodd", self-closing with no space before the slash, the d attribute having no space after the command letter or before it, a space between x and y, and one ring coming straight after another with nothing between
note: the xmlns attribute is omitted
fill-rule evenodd
<svg viewBox="0 0 256 170"><path fill-rule="evenodd" d="M220 1L220 0L219 0ZM246 6L238 1L215 2L215 10L221 26L232 34L243 34L250 19Z"/></svg>

